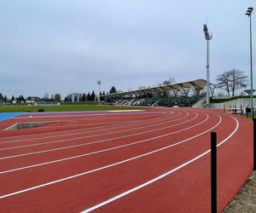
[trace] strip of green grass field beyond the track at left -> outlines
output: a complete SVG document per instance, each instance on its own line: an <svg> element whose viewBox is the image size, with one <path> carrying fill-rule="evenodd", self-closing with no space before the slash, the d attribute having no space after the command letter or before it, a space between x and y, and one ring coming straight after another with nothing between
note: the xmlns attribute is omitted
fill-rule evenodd
<svg viewBox="0 0 256 213"><path fill-rule="evenodd" d="M44 109L45 112L65 112L65 111L104 111L104 110L136 110L142 107L115 107L98 105L55 105L55 106L0 106L0 112L38 112L38 109ZM144 108L145 109L145 108Z"/></svg>

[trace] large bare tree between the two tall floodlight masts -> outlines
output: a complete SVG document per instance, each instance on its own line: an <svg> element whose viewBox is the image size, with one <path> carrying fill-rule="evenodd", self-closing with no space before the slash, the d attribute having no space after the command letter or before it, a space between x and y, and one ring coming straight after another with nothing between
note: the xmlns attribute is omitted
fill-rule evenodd
<svg viewBox="0 0 256 213"><path fill-rule="evenodd" d="M216 81L218 83L218 88L225 89L230 96L230 93L235 95L235 91L237 89L247 87L247 78L248 77L244 75L244 72L237 69L232 69L218 75Z"/></svg>

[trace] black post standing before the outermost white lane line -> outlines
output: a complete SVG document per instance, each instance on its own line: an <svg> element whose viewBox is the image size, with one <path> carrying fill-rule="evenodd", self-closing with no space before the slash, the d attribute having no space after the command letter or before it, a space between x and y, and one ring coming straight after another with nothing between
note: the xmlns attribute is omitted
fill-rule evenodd
<svg viewBox="0 0 256 213"><path fill-rule="evenodd" d="M211 132L211 212L217 213L217 133Z"/></svg>

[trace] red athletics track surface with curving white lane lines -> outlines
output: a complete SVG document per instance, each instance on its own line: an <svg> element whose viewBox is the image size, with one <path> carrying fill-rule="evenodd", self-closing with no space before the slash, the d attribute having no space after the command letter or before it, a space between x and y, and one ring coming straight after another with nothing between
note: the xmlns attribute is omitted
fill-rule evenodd
<svg viewBox="0 0 256 213"><path fill-rule="evenodd" d="M26 130L15 123L55 121ZM23 113L0 122L0 212L218 211L253 170L253 123L221 111Z"/></svg>

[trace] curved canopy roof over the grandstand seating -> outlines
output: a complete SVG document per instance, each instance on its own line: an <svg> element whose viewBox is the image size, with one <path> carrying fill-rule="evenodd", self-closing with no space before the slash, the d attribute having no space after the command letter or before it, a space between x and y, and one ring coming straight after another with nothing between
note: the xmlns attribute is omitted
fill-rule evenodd
<svg viewBox="0 0 256 213"><path fill-rule="evenodd" d="M144 89L136 89L126 92L118 92L108 95L101 95L102 97L120 97L125 95L144 95L144 94L153 94L153 93L163 93L168 90L180 91L183 89L194 89L196 94L199 94L201 89L204 89L207 86L207 81L204 79L196 79L194 81L188 81L183 83L171 83L163 84L156 87L148 87Z"/></svg>

